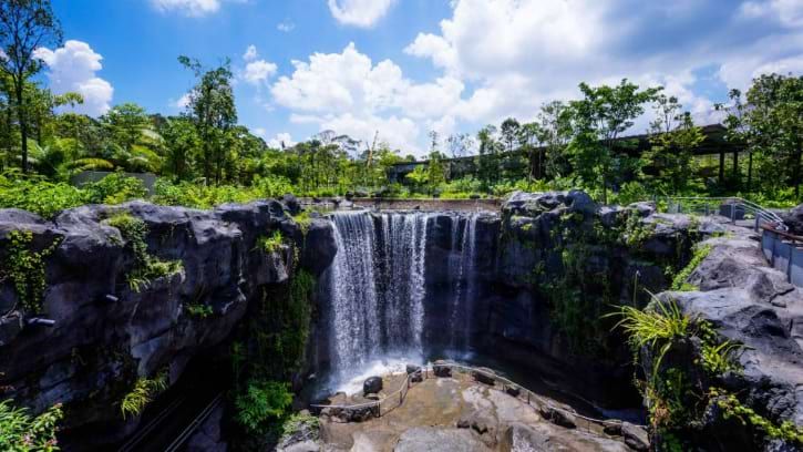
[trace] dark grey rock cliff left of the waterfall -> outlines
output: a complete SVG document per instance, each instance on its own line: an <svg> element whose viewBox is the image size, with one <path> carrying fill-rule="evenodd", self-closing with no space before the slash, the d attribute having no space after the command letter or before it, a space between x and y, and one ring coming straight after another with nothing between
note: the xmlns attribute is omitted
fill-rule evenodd
<svg viewBox="0 0 803 452"><path fill-rule="evenodd" d="M225 342L261 288L284 284L298 267L317 275L329 266L336 253L329 222L312 219L302 230L286 208L276 201L214 210L133 202L79 207L53 220L0 210L2 397L34 411L63 403L66 430L131 431L137 419L124 422L120 402L137 378L166 370L175 383L191 359ZM126 274L135 257L104 222L119 213L144 220L148 253L181 260L181 271L133 290ZM31 232L35 250L58 240L44 259L40 312L23 309L9 276L13 230ZM277 230L286 244L260 250L257 240Z"/></svg>

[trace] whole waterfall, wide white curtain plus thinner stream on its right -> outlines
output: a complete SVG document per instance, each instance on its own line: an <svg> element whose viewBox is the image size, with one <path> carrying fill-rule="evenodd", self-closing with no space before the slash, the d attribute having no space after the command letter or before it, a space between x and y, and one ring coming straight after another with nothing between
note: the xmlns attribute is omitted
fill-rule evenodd
<svg viewBox="0 0 803 452"><path fill-rule="evenodd" d="M423 361L430 351L423 343L425 304L443 312L429 320L437 322L430 335L433 340L459 353L471 348L481 214L445 215L451 230L443 243L431 238L428 243L428 232L439 224L433 214L361 210L331 215L338 251L326 290L330 298L330 383L338 390L353 390L364 377L360 371L379 372L392 362ZM447 263L428 263L431 247L446 253ZM430 273L445 278L429 284L446 287L445 291L433 289L430 299L428 264ZM445 271L439 271L436 266L444 264ZM446 317L437 320L440 316Z"/></svg>

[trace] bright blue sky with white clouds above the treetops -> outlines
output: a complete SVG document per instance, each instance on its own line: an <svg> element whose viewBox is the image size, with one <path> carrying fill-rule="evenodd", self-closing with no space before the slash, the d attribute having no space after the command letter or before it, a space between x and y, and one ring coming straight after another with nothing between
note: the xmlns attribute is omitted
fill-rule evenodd
<svg viewBox="0 0 803 452"><path fill-rule="evenodd" d="M666 4L665 4L666 3ZM421 154L428 132L534 119L580 81L662 84L700 122L761 72L803 71L803 0L53 0L54 91L101 114L176 114L179 54L230 58L240 123L286 143L333 129ZM249 51L249 48L251 49ZM644 127L648 117L638 127ZM634 131L640 132L640 131Z"/></svg>

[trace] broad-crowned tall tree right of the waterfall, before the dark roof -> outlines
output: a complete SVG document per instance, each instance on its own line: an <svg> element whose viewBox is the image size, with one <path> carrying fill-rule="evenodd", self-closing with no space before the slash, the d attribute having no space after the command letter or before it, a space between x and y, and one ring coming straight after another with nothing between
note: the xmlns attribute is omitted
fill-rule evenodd
<svg viewBox="0 0 803 452"><path fill-rule="evenodd" d="M580 83L583 99L572 102L575 137L570 143L572 164L584 183L597 186L603 203L608 202L608 184L618 166L617 138L640 116L644 104L660 89L639 91L622 79L616 86L589 86Z"/></svg>

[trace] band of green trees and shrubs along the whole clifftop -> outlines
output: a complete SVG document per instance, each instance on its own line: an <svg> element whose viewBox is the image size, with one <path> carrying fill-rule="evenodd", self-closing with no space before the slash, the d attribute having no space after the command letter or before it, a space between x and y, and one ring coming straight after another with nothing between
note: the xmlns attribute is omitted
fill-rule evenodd
<svg viewBox="0 0 803 452"><path fill-rule="evenodd" d="M35 39L19 45L20 35ZM476 136L432 132L429 164L398 178L392 166L414 158L383 142L382 131L370 142L323 131L271 148L237 125L227 60L205 66L178 58L177 68L195 76L179 115L152 114L134 103L100 117L71 113L65 106L80 104L81 96L55 95L34 76L42 63L33 44L60 42L50 1L3 3L0 207L53 216L80 204L145 195L121 176L82 188L68 183L86 170L156 174L155 202L200 208L290 192L464 198L566 188L584 188L608 203L683 194L741 194L770 206L800 202L803 78L791 74L761 75L744 95L733 91L728 104L718 105L737 151L735 170L728 163L719 174L719 155L694 155L706 137L676 97L622 80L612 86L580 83L579 99L548 102L531 122L507 119ZM650 111L646 135L622 140L642 132L634 124Z"/></svg>

